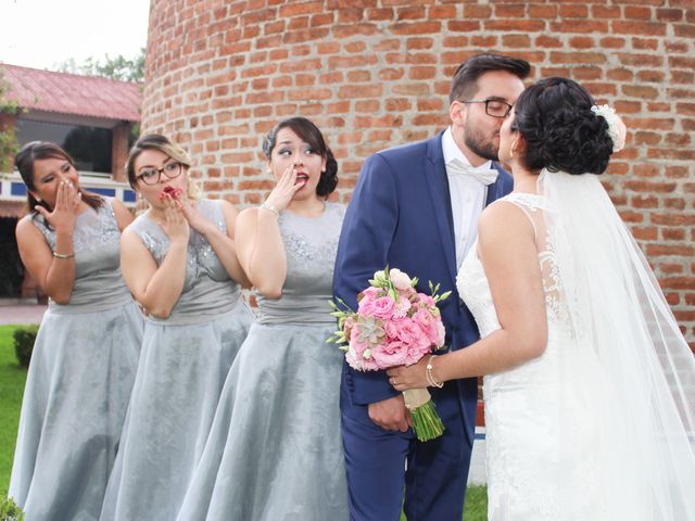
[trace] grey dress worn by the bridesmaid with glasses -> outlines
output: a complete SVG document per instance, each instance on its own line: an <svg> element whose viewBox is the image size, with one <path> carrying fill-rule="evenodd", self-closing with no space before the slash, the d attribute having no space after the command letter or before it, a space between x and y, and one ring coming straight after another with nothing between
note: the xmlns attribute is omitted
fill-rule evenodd
<svg viewBox="0 0 695 521"><path fill-rule="evenodd" d="M219 201L198 211L223 231ZM160 265L164 230L147 215L129 227ZM219 393L253 314L204 237L191 230L181 295L166 319L148 317L121 450L102 520L176 518L205 445Z"/></svg>

